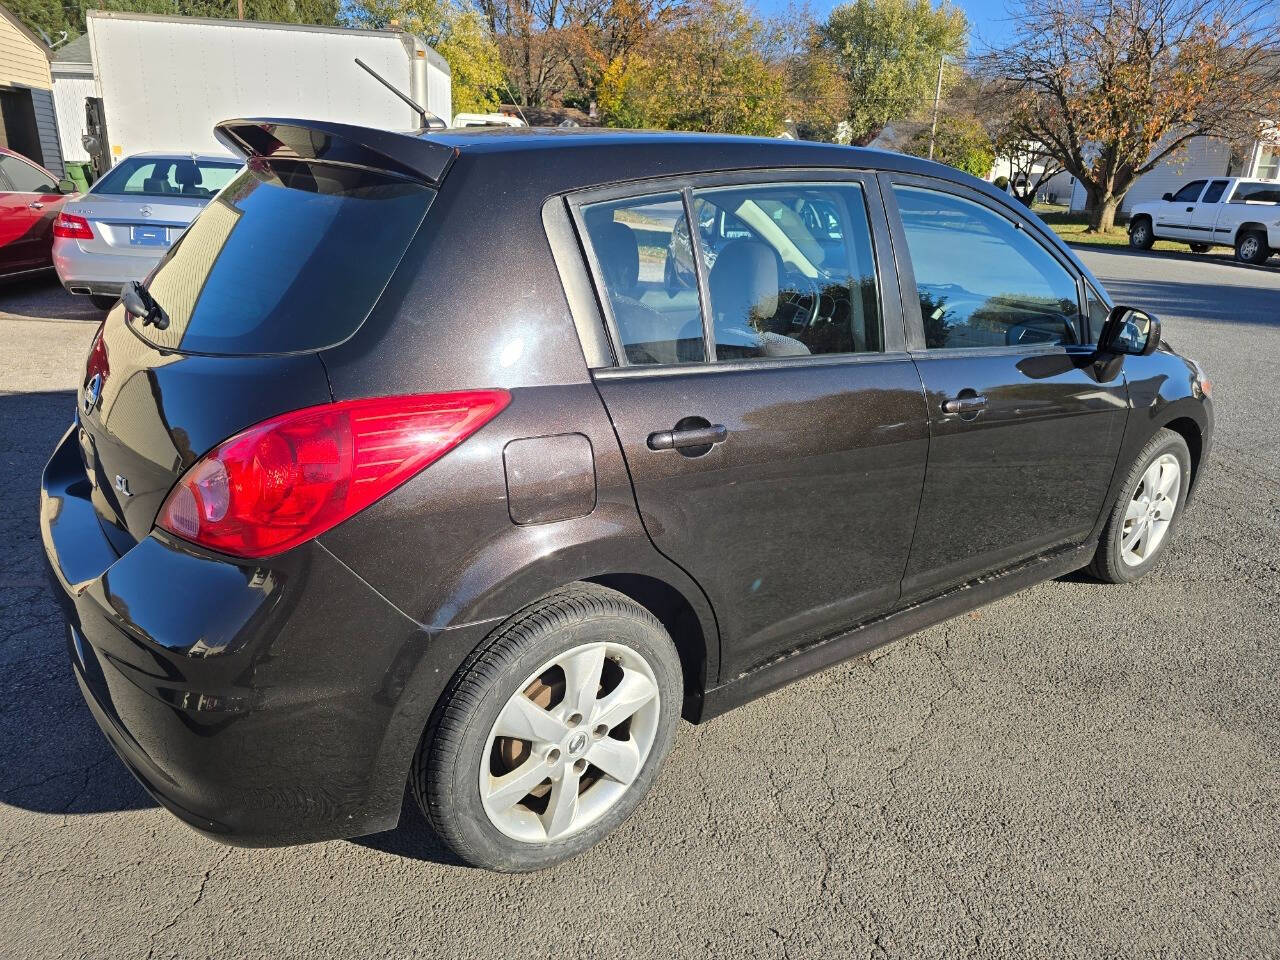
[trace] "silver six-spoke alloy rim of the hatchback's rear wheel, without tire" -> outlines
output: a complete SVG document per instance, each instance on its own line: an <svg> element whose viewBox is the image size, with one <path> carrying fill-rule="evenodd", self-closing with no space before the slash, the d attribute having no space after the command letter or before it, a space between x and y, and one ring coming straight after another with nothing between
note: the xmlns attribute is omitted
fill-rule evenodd
<svg viewBox="0 0 1280 960"><path fill-rule="evenodd" d="M480 760L480 800L502 833L562 840L617 804L658 732L653 668L599 641L544 663L503 705Z"/></svg>

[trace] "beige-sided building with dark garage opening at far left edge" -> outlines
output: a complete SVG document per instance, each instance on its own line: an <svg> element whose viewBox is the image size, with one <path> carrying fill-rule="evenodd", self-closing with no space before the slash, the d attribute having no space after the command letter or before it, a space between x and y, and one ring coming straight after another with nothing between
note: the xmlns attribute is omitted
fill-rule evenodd
<svg viewBox="0 0 1280 960"><path fill-rule="evenodd" d="M0 6L0 147L63 175L49 45Z"/></svg>

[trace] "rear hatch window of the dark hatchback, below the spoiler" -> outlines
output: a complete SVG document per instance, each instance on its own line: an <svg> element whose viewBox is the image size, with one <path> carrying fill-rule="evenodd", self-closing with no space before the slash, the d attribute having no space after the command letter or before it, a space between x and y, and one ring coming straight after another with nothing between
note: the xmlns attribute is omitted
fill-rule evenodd
<svg viewBox="0 0 1280 960"><path fill-rule="evenodd" d="M129 324L179 353L333 347L369 316L434 197L372 170L253 157L147 284L169 326Z"/></svg>

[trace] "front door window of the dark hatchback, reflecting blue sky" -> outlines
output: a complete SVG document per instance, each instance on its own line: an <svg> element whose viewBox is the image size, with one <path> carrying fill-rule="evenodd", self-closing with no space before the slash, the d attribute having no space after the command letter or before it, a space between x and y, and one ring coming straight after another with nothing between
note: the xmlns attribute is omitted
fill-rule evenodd
<svg viewBox="0 0 1280 960"><path fill-rule="evenodd" d="M1075 278L1012 220L970 200L893 186L931 348L1079 342Z"/></svg>

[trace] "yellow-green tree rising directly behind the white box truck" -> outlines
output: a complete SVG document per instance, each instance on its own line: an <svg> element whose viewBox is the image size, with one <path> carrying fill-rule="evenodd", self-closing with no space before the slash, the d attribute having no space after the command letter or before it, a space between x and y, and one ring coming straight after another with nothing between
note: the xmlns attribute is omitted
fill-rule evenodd
<svg viewBox="0 0 1280 960"><path fill-rule="evenodd" d="M379 28L394 20L434 46L449 61L454 113L489 113L502 102L502 58L476 10L449 0L353 0L344 19L352 27Z"/></svg>

